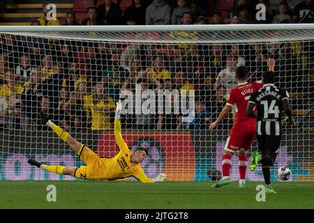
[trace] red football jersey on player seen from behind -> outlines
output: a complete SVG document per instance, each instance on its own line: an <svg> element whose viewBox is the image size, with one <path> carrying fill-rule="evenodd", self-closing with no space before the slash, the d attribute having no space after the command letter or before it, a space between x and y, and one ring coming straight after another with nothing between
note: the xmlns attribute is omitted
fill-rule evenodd
<svg viewBox="0 0 314 223"><path fill-rule="evenodd" d="M239 84L236 88L232 89L227 95L227 105L234 106L236 112L235 121L255 121L255 118L246 116L246 107L251 93L262 88L263 83L260 82L245 82Z"/></svg>

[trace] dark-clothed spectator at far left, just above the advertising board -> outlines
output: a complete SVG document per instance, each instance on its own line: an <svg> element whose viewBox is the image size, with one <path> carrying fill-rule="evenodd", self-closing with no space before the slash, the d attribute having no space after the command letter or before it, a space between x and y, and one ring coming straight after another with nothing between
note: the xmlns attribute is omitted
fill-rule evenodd
<svg viewBox="0 0 314 223"><path fill-rule="evenodd" d="M31 130L31 121L22 111L20 100L16 100L13 112L8 117L8 128L10 130Z"/></svg>

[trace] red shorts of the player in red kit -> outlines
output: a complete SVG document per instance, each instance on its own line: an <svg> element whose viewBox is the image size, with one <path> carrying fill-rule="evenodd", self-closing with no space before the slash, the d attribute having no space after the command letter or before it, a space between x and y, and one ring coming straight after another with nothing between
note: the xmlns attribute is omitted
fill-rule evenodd
<svg viewBox="0 0 314 223"><path fill-rule="evenodd" d="M225 151L235 153L244 148L250 150L255 139L256 123L234 123L225 143Z"/></svg>

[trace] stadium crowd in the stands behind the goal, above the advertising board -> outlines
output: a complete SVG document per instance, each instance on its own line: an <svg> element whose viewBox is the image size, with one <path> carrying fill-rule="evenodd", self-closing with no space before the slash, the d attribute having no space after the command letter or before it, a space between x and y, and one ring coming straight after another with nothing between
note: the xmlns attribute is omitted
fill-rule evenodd
<svg viewBox="0 0 314 223"><path fill-rule="evenodd" d="M267 20L262 22L313 20L313 11L309 13L311 15L301 13L305 8L313 10L313 1L262 3L267 6ZM253 6L253 1L238 0L226 17L214 11L209 20L209 12L202 10L204 7L197 1L154 0L146 6L141 0L134 0L124 15L112 1L105 1L103 5L87 9L88 18L83 24L260 23L249 13ZM44 9L44 16L31 25L60 24L59 20L47 21L45 13ZM75 13L67 13L64 25L77 25ZM251 73L250 81L255 81L267 70L267 59L273 58L277 61L278 77L285 80L281 83L291 92L296 89L298 77L308 69L308 63L298 61L313 56L310 47L313 43L91 43L3 34L0 43L0 129L45 130L41 123L43 113L66 131L112 129L115 102L121 92L135 91L136 84L140 84L143 95L148 89L156 93L166 89L180 93L195 90L195 118L190 122L190 116L177 114L174 109L170 114L126 114L121 121L123 128L207 129L223 109L227 92L237 86L234 74L238 66L246 66ZM172 97L172 105L174 100ZM141 103L144 102L142 99ZM218 128L228 129L231 125L232 116L225 118Z"/></svg>

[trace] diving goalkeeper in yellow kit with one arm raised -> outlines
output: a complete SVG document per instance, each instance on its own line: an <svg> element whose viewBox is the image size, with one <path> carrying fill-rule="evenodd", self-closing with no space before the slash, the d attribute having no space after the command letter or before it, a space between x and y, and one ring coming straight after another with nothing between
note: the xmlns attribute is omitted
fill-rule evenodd
<svg viewBox="0 0 314 223"><path fill-rule="evenodd" d="M117 145L120 152L111 158L99 157L94 151L87 146L81 144L79 141L73 139L70 134L58 125L55 125L50 120L45 120L44 123L50 126L58 136L72 148L80 159L87 164L87 167L63 167L63 166L49 166L36 160L29 160L29 164L35 165L40 169L45 169L54 174L63 174L74 176L75 178L87 180L116 180L134 176L142 183L164 182L167 180L165 174L159 174L156 178L148 178L140 166L144 158L147 156L147 151L144 148L137 148L132 153L128 149L128 145L122 138L120 125L121 100L117 102L116 116L114 118L114 135L116 137Z"/></svg>

